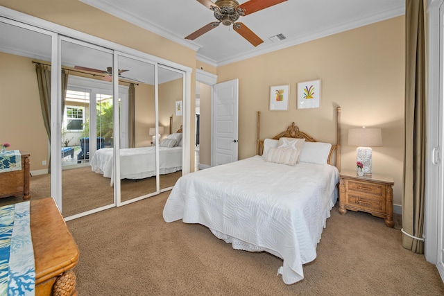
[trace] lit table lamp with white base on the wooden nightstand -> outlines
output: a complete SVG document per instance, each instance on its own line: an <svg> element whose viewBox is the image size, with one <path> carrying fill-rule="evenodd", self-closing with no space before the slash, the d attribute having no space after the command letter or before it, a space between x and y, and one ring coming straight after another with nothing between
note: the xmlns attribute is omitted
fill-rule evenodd
<svg viewBox="0 0 444 296"><path fill-rule="evenodd" d="M357 146L356 162L362 164L361 171L365 176L372 175L372 148L382 146L380 128L350 128L348 130L348 145ZM357 166L359 175L359 166Z"/></svg>

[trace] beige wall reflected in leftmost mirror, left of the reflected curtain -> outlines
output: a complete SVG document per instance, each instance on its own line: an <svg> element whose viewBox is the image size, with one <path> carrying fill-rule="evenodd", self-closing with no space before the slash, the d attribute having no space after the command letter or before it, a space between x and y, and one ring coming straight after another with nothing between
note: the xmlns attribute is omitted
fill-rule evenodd
<svg viewBox="0 0 444 296"><path fill-rule="evenodd" d="M48 134L44 128L35 65L29 58L0 53L0 142L8 150L31 153L31 171L47 168ZM42 161L46 160L46 166Z"/></svg>

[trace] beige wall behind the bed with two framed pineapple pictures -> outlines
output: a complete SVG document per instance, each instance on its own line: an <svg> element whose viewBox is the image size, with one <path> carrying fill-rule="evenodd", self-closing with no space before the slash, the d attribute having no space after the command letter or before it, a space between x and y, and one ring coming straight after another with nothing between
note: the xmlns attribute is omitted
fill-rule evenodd
<svg viewBox="0 0 444 296"><path fill-rule="evenodd" d="M355 169L348 129L382 128L373 172L393 176L401 204L404 143L404 16L217 68L218 82L239 78L239 159L255 155L257 111L262 139L294 121L318 141L336 143L332 125L342 109L342 168ZM297 82L321 80L321 108L296 109ZM270 87L290 85L289 111L268 110Z"/></svg>

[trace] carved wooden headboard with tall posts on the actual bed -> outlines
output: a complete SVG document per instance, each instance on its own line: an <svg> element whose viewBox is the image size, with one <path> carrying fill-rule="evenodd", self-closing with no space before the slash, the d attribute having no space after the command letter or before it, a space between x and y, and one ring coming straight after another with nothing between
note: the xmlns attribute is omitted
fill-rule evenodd
<svg viewBox="0 0 444 296"><path fill-rule="evenodd" d="M262 155L264 151L264 140L259 138L260 133L260 119L261 119L261 112L257 111L257 135L256 135L256 154ZM278 140L282 137L285 138L298 138L298 139L305 139L305 141L309 142L317 142L313 137L311 137L309 134L306 134L305 132L301 132L297 125L291 123L291 125L288 126L287 130L284 130L284 132L280 132L279 134L276 134L275 137L271 138L274 140ZM336 107L336 144L332 143L332 148L330 149L330 154L328 155L328 164L332 164L332 155L333 152L336 152L336 162L335 166L338 168L339 171L341 171L341 107Z"/></svg>

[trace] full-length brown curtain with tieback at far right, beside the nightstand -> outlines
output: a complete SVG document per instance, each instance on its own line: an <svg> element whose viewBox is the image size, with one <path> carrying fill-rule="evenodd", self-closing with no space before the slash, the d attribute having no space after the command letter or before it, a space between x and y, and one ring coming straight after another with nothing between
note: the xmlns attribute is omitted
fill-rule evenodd
<svg viewBox="0 0 444 296"><path fill-rule="evenodd" d="M406 0L402 246L422 254L425 200L425 24L423 0Z"/></svg>

